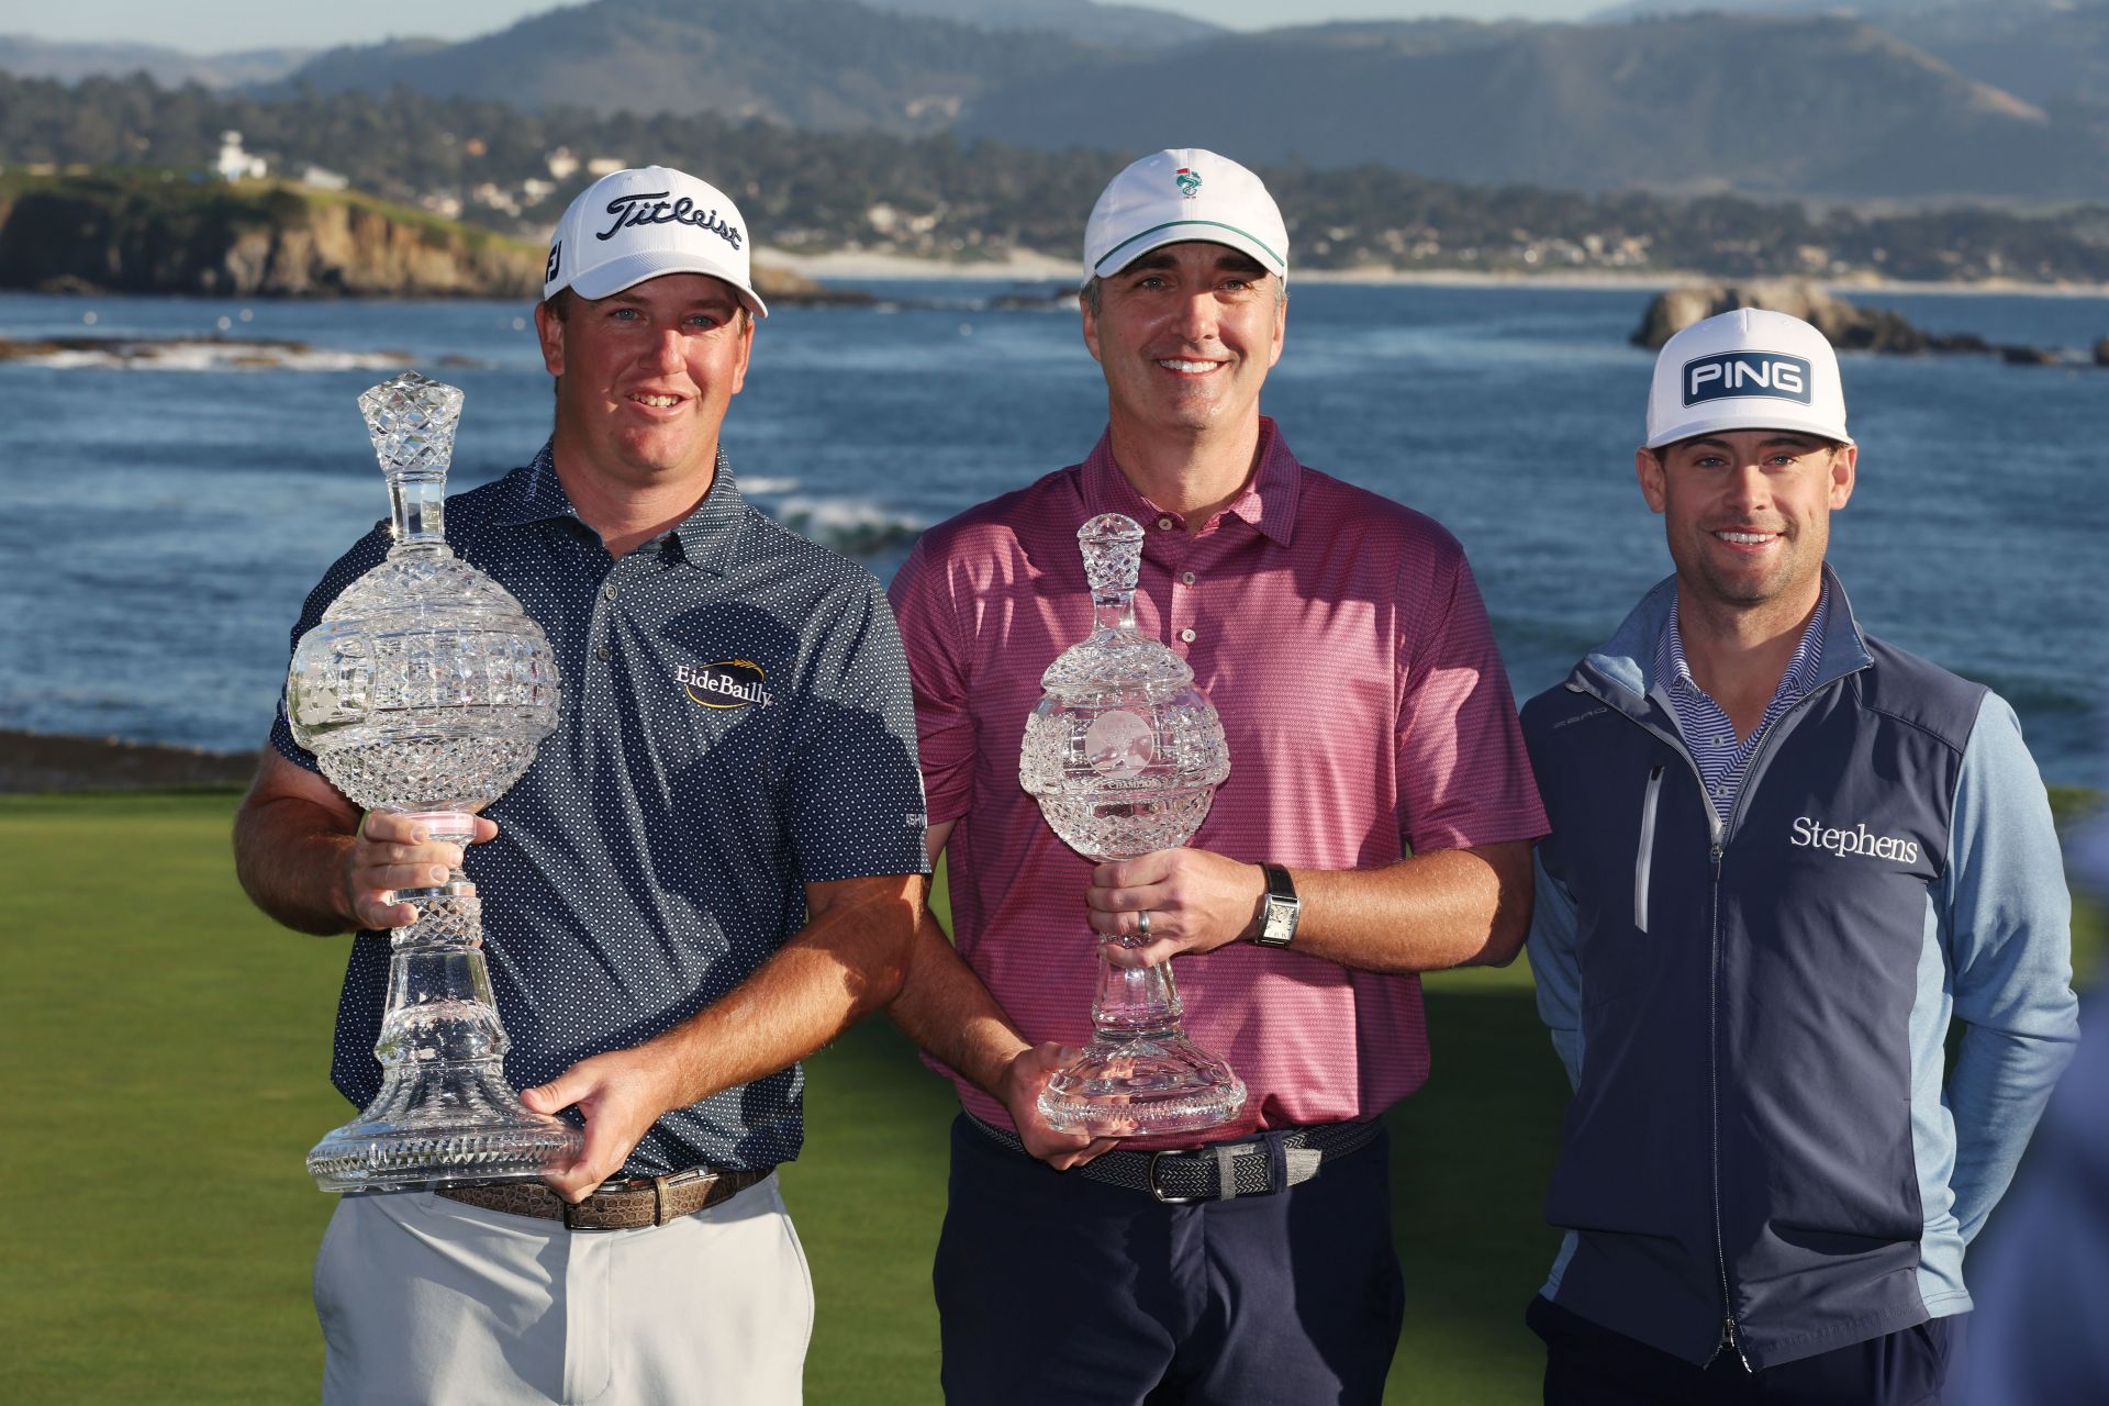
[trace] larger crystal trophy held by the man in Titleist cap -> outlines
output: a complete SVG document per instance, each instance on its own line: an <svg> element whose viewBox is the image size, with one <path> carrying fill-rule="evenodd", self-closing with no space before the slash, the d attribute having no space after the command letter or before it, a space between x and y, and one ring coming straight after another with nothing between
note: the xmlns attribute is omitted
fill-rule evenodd
<svg viewBox="0 0 2109 1406"><path fill-rule="evenodd" d="M354 805L407 814L466 845L557 727L542 626L443 531L462 392L403 373L359 396L388 479L394 546L299 637L285 685L293 738ZM483 957L483 904L456 868L399 890L418 919L392 934L373 1054L382 1090L308 1153L323 1191L405 1191L540 1176L584 1145L504 1077L512 1041Z"/></svg>

